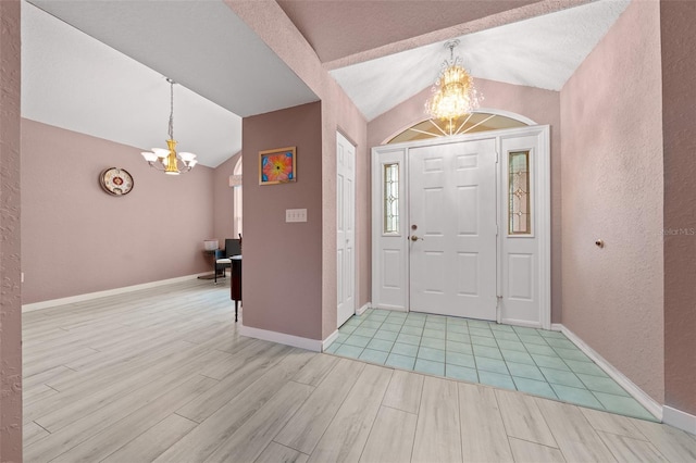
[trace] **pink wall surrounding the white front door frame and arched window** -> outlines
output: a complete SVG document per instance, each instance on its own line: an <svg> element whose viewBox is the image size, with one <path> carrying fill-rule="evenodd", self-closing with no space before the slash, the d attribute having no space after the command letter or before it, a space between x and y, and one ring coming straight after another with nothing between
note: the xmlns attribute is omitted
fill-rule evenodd
<svg viewBox="0 0 696 463"><path fill-rule="evenodd" d="M484 95L484 108L513 112L537 124L551 126L551 321L561 320L561 122L559 92L475 79ZM368 146L383 145L393 136L423 121L424 103L431 96L430 87L406 100L368 124ZM368 165L369 168L369 165Z"/></svg>

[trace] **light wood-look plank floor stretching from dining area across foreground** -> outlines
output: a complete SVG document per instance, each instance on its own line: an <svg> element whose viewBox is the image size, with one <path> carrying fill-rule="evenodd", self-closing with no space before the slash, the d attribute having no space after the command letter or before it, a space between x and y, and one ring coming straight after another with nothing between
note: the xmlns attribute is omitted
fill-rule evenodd
<svg viewBox="0 0 696 463"><path fill-rule="evenodd" d="M244 338L228 286L191 280L24 315L24 458L687 462L696 438Z"/></svg>

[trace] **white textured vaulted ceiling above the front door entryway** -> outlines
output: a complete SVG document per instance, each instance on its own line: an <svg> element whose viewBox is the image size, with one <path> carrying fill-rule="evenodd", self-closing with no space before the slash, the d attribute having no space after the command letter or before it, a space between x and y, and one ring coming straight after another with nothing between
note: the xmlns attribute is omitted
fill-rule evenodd
<svg viewBox="0 0 696 463"><path fill-rule="evenodd" d="M597 1L459 36L455 54L474 78L560 90L627 4ZM436 42L331 74L371 121L433 85L448 58Z"/></svg>

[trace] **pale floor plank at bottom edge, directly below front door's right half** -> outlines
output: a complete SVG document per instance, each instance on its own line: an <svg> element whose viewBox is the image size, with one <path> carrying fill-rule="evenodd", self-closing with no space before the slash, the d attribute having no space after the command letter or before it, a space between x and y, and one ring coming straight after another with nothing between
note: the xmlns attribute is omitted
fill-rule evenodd
<svg viewBox="0 0 696 463"><path fill-rule="evenodd" d="M513 461L493 388L468 383L458 386L463 461Z"/></svg>

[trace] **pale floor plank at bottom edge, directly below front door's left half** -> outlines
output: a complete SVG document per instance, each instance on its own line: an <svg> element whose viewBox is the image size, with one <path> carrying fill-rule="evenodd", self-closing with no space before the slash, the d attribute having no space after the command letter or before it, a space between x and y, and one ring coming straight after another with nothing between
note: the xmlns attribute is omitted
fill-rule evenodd
<svg viewBox="0 0 696 463"><path fill-rule="evenodd" d="M411 461L462 461L457 383L425 377Z"/></svg>

